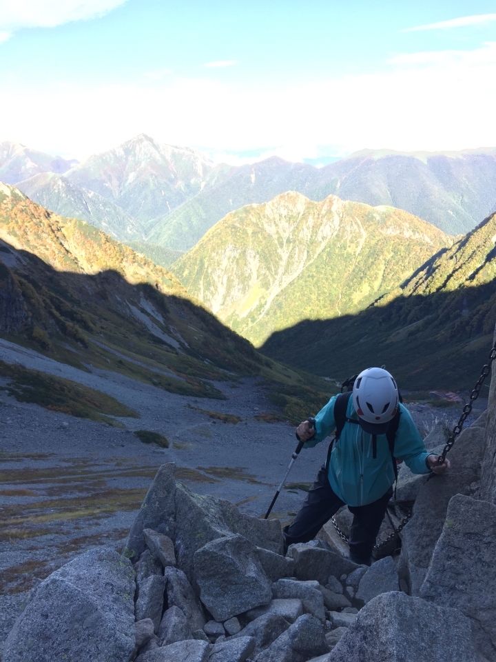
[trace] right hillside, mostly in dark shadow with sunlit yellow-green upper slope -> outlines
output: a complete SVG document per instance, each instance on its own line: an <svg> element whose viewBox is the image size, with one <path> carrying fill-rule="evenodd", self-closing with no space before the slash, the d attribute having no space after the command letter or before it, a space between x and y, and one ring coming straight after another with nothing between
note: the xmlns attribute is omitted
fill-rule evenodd
<svg viewBox="0 0 496 662"><path fill-rule="evenodd" d="M404 388L472 389L493 344L495 242L492 214L369 308L301 321L261 351L336 378L384 363Z"/></svg>

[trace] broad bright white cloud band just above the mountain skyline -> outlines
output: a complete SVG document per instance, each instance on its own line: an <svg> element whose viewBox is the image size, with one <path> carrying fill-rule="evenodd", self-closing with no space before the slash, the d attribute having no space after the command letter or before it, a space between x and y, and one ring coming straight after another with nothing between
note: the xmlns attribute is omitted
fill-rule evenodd
<svg viewBox="0 0 496 662"><path fill-rule="evenodd" d="M0 88L0 139L83 159L145 132L174 145L211 146L216 161L229 163L496 146L495 79L496 43L487 43L400 54L382 72L280 86L167 77L34 88L12 80ZM263 146L270 148L260 157L233 156Z"/></svg>

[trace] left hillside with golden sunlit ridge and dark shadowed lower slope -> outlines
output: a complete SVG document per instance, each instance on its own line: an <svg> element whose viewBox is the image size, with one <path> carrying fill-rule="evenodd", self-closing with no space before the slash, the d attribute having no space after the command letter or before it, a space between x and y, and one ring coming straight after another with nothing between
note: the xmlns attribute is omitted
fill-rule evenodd
<svg viewBox="0 0 496 662"><path fill-rule="evenodd" d="M0 240L0 332L14 343L196 397L225 399L211 381L260 375L303 401L327 398L308 375L258 354L170 272L5 184Z"/></svg>

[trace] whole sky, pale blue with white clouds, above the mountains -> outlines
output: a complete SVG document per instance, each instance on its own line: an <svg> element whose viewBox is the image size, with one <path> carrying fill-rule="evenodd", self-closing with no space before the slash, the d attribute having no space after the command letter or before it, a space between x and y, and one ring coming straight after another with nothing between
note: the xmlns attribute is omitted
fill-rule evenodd
<svg viewBox="0 0 496 662"><path fill-rule="evenodd" d="M496 145L496 1L0 0L0 139L234 163Z"/></svg>

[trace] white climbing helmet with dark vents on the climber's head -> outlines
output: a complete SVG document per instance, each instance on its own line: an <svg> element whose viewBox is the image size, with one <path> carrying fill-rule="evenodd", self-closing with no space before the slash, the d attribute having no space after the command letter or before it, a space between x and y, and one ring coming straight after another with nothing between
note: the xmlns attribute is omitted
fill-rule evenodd
<svg viewBox="0 0 496 662"><path fill-rule="evenodd" d="M353 384L353 407L365 432L384 434L398 406L396 382L383 368L367 368Z"/></svg>

